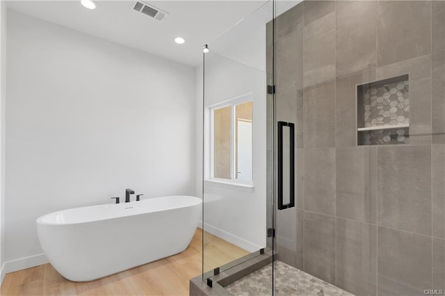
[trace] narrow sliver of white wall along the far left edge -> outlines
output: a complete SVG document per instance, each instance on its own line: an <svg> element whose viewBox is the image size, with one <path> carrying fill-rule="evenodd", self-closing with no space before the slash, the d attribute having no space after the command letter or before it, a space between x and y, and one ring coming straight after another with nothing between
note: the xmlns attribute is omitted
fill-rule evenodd
<svg viewBox="0 0 445 296"><path fill-rule="evenodd" d="M5 100L6 100L6 3L0 0L0 284L5 277Z"/></svg>

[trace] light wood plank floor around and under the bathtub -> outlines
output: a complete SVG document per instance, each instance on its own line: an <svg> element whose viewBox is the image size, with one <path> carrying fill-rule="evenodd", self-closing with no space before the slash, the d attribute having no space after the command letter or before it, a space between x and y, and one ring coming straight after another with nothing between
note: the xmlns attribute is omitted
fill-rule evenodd
<svg viewBox="0 0 445 296"><path fill-rule="evenodd" d="M206 270L248 254L209 233L204 242ZM201 273L202 230L197 229L181 254L85 283L68 281L48 263L6 274L0 295L188 295L188 280Z"/></svg>

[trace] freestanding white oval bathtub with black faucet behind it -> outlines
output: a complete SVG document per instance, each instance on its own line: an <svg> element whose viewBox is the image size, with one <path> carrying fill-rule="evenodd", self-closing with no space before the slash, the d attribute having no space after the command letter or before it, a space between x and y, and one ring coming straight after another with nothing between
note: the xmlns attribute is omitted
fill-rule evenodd
<svg viewBox="0 0 445 296"><path fill-rule="evenodd" d="M39 217L51 265L70 281L92 281L183 252L200 218L198 197L71 208Z"/></svg>

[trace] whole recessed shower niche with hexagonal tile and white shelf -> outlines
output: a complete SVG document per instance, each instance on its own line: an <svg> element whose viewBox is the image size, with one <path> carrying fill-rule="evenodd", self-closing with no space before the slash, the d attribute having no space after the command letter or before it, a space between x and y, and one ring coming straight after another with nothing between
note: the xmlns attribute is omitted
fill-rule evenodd
<svg viewBox="0 0 445 296"><path fill-rule="evenodd" d="M357 85L358 145L398 145L410 140L408 75Z"/></svg>

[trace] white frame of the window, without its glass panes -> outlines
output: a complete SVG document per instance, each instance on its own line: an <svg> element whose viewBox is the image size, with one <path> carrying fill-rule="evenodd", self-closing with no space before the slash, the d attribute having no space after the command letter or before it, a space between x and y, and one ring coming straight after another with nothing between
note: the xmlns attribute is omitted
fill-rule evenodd
<svg viewBox="0 0 445 296"><path fill-rule="evenodd" d="M241 104L245 104L248 102L252 102L252 180L239 180L236 179L236 174L235 174L235 170L236 170L236 147L235 147L235 143L236 143L236 129L235 129L235 118L236 118L236 106L241 105ZM211 106L207 107L207 110L209 112L209 125L210 125L210 129L209 129L209 155L210 155L210 159L209 159L209 179L207 181L214 181L214 182L218 182L218 183L226 183L226 184L233 184L233 185L237 185L237 186L253 186L253 180L254 180L254 170L253 170L253 151L254 151L254 145L253 145L253 131L254 131L254 113L253 113L253 96L252 96L252 92L248 92L247 94L241 94L240 96L234 97L232 99L228 99L225 101L221 101L217 104L213 104ZM214 149L215 149L215 138L214 138L214 111L219 109L219 108L224 108L230 106L230 179L222 179L222 178L216 178L214 176L215 171L214 171Z"/></svg>

